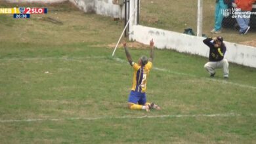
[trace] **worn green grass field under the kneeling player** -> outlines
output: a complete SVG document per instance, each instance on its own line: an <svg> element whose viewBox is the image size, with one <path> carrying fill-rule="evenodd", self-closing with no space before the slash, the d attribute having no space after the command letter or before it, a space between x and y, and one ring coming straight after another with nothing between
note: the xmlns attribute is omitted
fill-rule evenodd
<svg viewBox="0 0 256 144"><path fill-rule="evenodd" d="M0 15L0 143L256 143L255 68L230 63L228 81L210 79L207 58L156 50L147 96L162 110L131 111L133 69L109 47L123 24L47 8Z"/></svg>

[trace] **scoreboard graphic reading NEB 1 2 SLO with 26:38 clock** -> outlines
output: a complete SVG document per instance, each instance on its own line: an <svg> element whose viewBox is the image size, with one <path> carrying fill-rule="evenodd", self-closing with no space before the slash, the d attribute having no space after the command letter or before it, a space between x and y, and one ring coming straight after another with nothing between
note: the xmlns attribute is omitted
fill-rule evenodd
<svg viewBox="0 0 256 144"><path fill-rule="evenodd" d="M0 8L0 14L13 14L13 18L30 18L30 14L47 14L47 8Z"/></svg>

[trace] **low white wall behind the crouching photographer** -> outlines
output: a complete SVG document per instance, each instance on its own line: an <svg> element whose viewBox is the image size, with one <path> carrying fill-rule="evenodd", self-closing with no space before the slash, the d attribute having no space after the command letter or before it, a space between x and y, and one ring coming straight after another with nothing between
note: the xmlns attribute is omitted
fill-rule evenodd
<svg viewBox="0 0 256 144"><path fill-rule="evenodd" d="M178 52L186 52L190 54L198 54L200 56L209 56L209 48L203 44L203 37L196 37L156 29L145 26L133 26L131 38L140 43L148 45L151 39L154 39L155 46L163 49L174 49ZM224 58L228 62L234 62L249 67L256 67L256 48L252 46L238 45L224 41L226 45L226 54Z"/></svg>

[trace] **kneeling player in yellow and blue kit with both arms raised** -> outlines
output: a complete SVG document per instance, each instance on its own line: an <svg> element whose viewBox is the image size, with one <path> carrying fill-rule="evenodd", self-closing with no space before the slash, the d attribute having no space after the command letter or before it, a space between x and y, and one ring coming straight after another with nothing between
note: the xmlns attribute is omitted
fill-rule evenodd
<svg viewBox="0 0 256 144"><path fill-rule="evenodd" d="M158 109L160 107L154 103L148 103L146 101L146 81L150 69L152 68L152 61L154 57L154 42L153 39L150 41L150 58L146 56L141 56L139 62L135 63L131 59L131 54L129 53L126 43L123 42L123 48L125 48L125 54L128 62L133 67L133 86L131 88L131 93L128 99L128 108L129 109L145 109L150 111L150 109Z"/></svg>

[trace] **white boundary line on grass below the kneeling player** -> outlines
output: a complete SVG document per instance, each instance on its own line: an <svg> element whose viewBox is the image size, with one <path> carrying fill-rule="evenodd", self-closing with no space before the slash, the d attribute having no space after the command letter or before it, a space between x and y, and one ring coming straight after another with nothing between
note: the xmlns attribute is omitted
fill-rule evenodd
<svg viewBox="0 0 256 144"><path fill-rule="evenodd" d="M194 117L255 117L255 114L240 115L236 113L223 114L199 114L199 115L144 115L144 116L116 116L116 117L73 117L73 118L35 118L22 120L0 120L0 123L11 122L40 122L40 121L63 121L63 120L104 120L104 119L141 119L141 118L194 118Z"/></svg>

